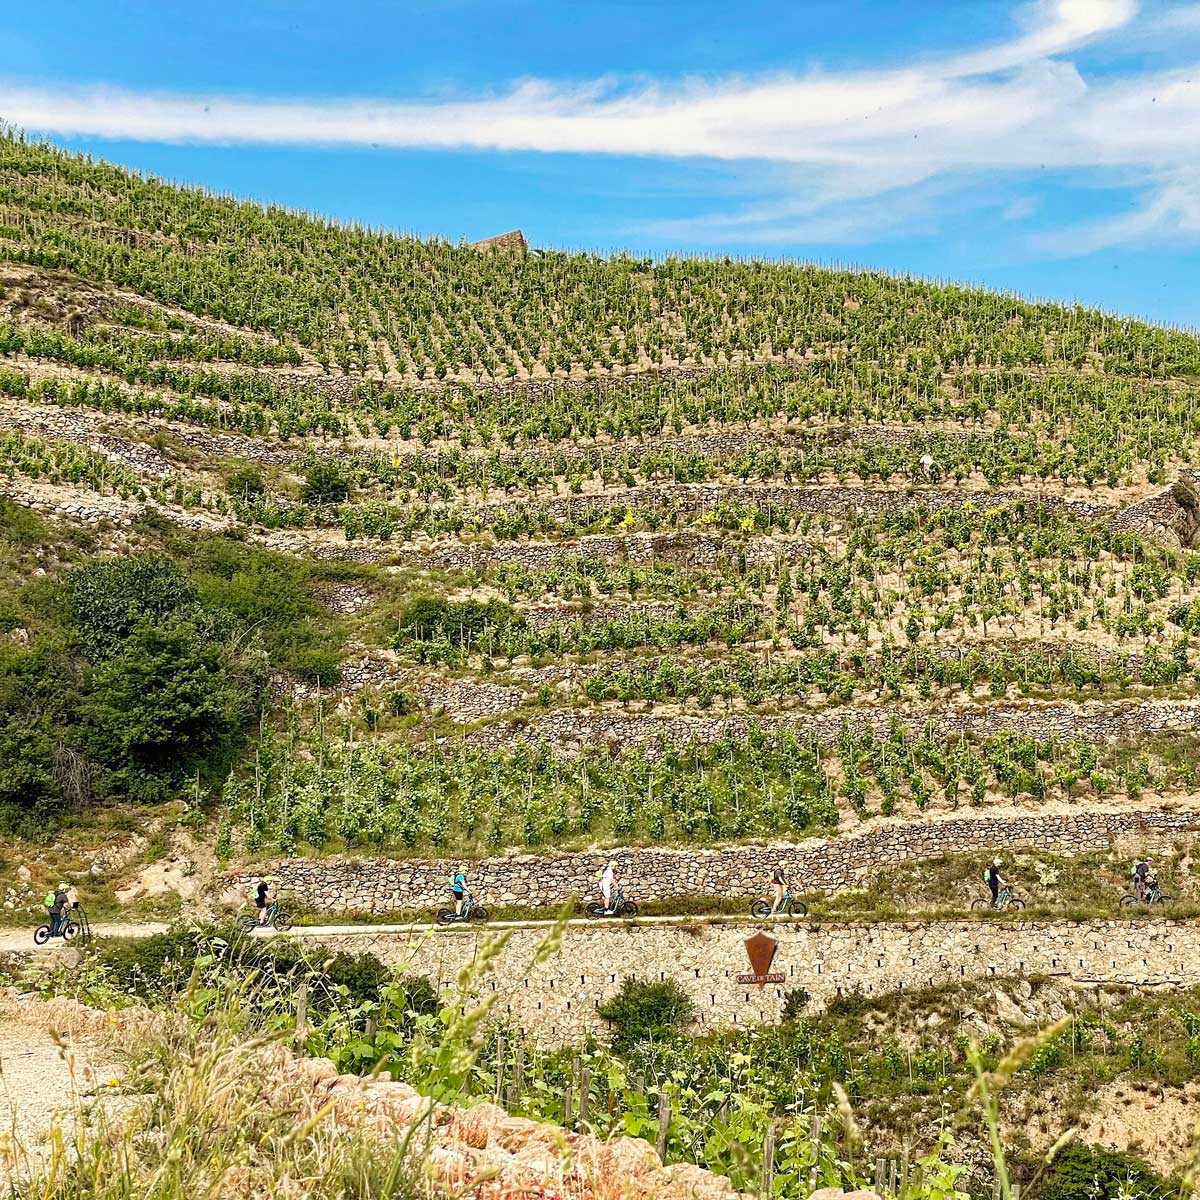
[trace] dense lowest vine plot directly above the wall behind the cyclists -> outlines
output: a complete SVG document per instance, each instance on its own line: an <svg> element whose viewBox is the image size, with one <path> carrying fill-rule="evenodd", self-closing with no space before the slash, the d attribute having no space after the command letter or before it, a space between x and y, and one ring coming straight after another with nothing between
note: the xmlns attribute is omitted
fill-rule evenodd
<svg viewBox="0 0 1200 1200"><path fill-rule="evenodd" d="M832 823L820 748L754 730L713 745L568 756L517 744L407 744L302 733L298 714L258 743L224 802L242 847L352 845L439 850L617 840L706 842ZM503 805L496 797L506 797Z"/></svg>

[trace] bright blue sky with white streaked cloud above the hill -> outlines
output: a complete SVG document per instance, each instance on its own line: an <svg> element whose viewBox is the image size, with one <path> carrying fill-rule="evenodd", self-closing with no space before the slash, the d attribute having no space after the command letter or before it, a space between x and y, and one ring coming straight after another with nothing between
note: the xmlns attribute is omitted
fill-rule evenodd
<svg viewBox="0 0 1200 1200"><path fill-rule="evenodd" d="M6 6L0 118L475 239L880 266L1200 325L1200 2Z"/></svg>

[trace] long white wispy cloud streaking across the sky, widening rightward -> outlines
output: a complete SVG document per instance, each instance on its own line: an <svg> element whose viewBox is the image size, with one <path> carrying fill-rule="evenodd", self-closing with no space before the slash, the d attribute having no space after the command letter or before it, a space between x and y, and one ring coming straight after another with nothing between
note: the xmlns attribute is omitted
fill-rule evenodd
<svg viewBox="0 0 1200 1200"><path fill-rule="evenodd" d="M1193 11L1171 12L1187 24ZM1192 168L1200 65L1085 79L1072 53L1128 30L1135 0L1040 0L1014 17L1018 30L1007 41L874 72L674 85L529 79L500 95L438 103L13 86L0 89L0 114L28 130L152 142L470 148L786 168L786 194L770 203L656 227L698 240L852 241L919 223L965 179L1040 168L1103 173L1105 181L1135 184L1141 196L1132 215L1056 234L1046 245L1060 252L1200 236L1200 176Z"/></svg>

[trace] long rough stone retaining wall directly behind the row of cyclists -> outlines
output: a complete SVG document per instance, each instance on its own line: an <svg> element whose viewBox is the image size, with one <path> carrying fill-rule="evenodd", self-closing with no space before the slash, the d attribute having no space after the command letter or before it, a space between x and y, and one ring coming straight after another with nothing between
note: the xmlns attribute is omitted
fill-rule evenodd
<svg viewBox="0 0 1200 1200"><path fill-rule="evenodd" d="M865 834L799 845L724 850L638 847L581 853L485 858L469 866L470 888L481 904L554 908L572 895L598 894L596 876L610 859L642 902L685 896L756 896L772 870L782 866L798 892L834 893L857 887L874 870L940 854L1042 850L1079 854L1104 850L1122 838L1169 841L1200 829L1200 809L1080 811L1076 814L965 816L876 827ZM457 859L356 860L289 858L263 868L280 888L318 912L383 913L428 910L448 900ZM245 894L256 871L228 876Z"/></svg>

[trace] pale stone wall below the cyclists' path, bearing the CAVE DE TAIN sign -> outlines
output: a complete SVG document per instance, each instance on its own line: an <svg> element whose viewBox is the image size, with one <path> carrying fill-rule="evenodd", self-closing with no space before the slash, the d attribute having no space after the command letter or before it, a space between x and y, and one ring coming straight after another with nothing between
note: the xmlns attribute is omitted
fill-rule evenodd
<svg viewBox="0 0 1200 1200"><path fill-rule="evenodd" d="M860 990L868 996L962 979L1054 976L1081 988L1200 984L1200 926L1171 920L934 922L929 924L780 923L763 931L778 946L770 964L781 983L742 983L750 972L746 923L568 926L558 954L533 966L545 930L512 930L481 982L493 1016L548 1044L574 1042L606 1026L596 1008L628 976L674 979L697 1009L696 1032L780 1019L790 990L816 1004ZM322 936L371 950L413 973L454 986L479 949L473 930Z"/></svg>

